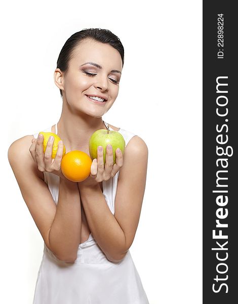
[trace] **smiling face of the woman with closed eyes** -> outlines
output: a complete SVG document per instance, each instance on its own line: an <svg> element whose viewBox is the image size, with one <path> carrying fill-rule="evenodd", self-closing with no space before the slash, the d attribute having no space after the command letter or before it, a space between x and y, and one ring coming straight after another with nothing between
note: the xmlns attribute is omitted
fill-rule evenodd
<svg viewBox="0 0 238 304"><path fill-rule="evenodd" d="M118 95L121 55L110 45L92 40L82 41L73 54L62 79L66 102L72 110L102 117Z"/></svg>

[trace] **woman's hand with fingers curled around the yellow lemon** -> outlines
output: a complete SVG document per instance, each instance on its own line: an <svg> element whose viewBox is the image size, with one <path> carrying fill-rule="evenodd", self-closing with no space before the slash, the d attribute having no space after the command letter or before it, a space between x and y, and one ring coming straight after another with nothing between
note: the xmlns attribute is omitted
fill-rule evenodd
<svg viewBox="0 0 238 304"><path fill-rule="evenodd" d="M52 159L52 147L53 147L54 137L53 140L50 140L50 138L47 142L45 153L43 148L44 135L39 134L37 139L32 138L31 145L29 148L30 154L34 162L37 164L39 171L51 172L53 174L56 174L66 179L60 168L61 160L63 157L64 144L62 140L59 141L55 159Z"/></svg>

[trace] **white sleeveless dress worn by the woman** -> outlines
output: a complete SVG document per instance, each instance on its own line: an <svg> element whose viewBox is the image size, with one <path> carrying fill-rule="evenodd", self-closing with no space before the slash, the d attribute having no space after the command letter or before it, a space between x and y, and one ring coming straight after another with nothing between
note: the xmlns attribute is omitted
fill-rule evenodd
<svg viewBox="0 0 238 304"><path fill-rule="evenodd" d="M112 129L109 127L109 130ZM51 127L44 132L51 132ZM124 129L118 132L126 145L135 136ZM38 133L34 134L37 136ZM112 214L118 174L103 181L103 195ZM44 172L44 176L57 204L59 177L50 172ZM90 234L89 239L78 246L74 263L59 260L44 243L33 304L148 304L148 299L130 251L122 261L111 262Z"/></svg>

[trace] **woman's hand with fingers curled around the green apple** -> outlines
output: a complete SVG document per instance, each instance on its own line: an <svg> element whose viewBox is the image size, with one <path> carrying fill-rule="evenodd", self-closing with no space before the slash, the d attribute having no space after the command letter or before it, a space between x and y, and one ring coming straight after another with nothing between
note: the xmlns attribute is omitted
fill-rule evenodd
<svg viewBox="0 0 238 304"><path fill-rule="evenodd" d="M91 165L91 174L85 180L78 182L78 186L95 186L99 182L108 180L111 177L115 176L115 174L120 170L123 166L123 154L122 151L117 148L115 150L115 164L113 165L113 151L111 145L107 145L106 147L106 158L105 158L105 166L103 162L103 148L98 147L97 154L98 158L94 159Z"/></svg>

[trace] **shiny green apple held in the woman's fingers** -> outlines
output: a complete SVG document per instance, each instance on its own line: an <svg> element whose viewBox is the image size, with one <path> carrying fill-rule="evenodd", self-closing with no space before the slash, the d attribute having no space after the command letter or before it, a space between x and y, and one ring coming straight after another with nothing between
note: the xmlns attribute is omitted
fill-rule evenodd
<svg viewBox="0 0 238 304"><path fill-rule="evenodd" d="M100 129L95 131L89 139L89 154L91 159L97 159L97 148L98 146L103 147L103 161L106 161L106 146L110 144L113 150L113 164L115 164L115 150L120 148L122 154L124 154L125 149L125 139L121 133L117 131L111 131Z"/></svg>

